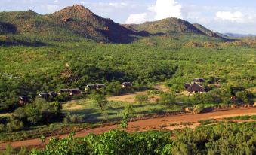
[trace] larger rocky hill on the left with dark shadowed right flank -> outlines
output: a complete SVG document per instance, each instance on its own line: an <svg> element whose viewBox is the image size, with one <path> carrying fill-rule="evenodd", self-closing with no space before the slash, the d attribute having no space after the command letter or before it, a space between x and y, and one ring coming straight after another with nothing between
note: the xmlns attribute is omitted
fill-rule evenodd
<svg viewBox="0 0 256 155"><path fill-rule="evenodd" d="M79 36L114 43L134 41L136 37L131 35L147 35L146 32L135 32L113 20L97 16L82 5L73 5L46 15L34 11L2 12L0 22L1 34L11 32L49 38Z"/></svg>

